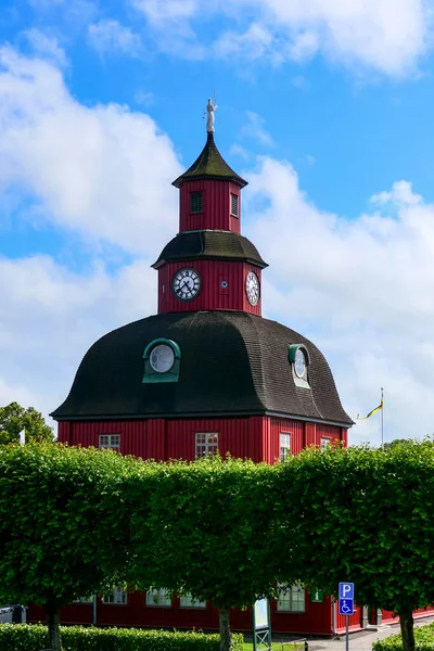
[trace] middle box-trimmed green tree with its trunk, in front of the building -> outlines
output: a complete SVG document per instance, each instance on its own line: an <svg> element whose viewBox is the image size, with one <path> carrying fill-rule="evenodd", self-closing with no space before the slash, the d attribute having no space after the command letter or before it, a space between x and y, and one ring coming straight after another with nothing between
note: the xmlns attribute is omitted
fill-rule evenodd
<svg viewBox="0 0 434 651"><path fill-rule="evenodd" d="M229 611L273 592L275 469L218 457L145 464L130 485L132 582L210 600L220 649L231 649Z"/></svg>

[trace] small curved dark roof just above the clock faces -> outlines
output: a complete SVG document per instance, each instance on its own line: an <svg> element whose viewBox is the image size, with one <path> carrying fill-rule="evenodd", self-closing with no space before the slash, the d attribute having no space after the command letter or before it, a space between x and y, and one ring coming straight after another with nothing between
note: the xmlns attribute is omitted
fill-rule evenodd
<svg viewBox="0 0 434 651"><path fill-rule="evenodd" d="M158 269L165 263L192 258L246 260L263 269L268 267L247 238L232 231L216 230L179 233L166 244L152 266Z"/></svg>

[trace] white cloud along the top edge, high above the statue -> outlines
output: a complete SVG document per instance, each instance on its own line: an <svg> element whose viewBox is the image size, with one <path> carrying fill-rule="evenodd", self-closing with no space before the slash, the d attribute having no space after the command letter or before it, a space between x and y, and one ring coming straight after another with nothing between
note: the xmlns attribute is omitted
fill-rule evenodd
<svg viewBox="0 0 434 651"><path fill-rule="evenodd" d="M432 46L432 0L132 0L163 38L161 49L180 56L217 55L239 62L304 62L316 54L357 75L378 71L393 77L414 72ZM222 17L221 31L208 46L201 22ZM227 29L228 18L237 25ZM193 26L195 29L193 29ZM175 31L174 31L175 30ZM189 47L166 33L183 34ZM181 39L182 40L182 39ZM175 49L174 49L175 48ZM200 52L200 54L199 54Z"/></svg>

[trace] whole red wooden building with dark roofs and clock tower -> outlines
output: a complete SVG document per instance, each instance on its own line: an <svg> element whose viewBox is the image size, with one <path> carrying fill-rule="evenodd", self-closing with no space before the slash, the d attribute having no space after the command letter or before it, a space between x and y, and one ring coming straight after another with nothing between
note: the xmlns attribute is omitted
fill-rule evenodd
<svg viewBox="0 0 434 651"><path fill-rule="evenodd" d="M346 444L352 420L323 355L261 317L267 265L241 234L245 184L208 132L197 159L174 182L179 233L153 265L158 312L106 334L85 355L52 414L59 441L156 460L218 449L268 463L311 444ZM291 242L288 248L290 255ZM276 633L331 635L344 626L330 598L315 600L298 586L271 610ZM29 610L30 621L42 616ZM210 603L120 589L65 608L62 621L218 628ZM231 625L250 630L251 613L233 611ZM361 609L350 625L362 626Z"/></svg>

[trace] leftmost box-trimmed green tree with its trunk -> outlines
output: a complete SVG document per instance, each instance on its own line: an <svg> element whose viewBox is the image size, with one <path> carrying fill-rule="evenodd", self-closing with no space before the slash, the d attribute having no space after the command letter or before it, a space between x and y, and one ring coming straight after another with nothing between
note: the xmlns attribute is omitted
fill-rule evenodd
<svg viewBox="0 0 434 651"><path fill-rule="evenodd" d="M43 605L61 651L59 610L125 576L135 461L53 444L0 448L0 602Z"/></svg>

